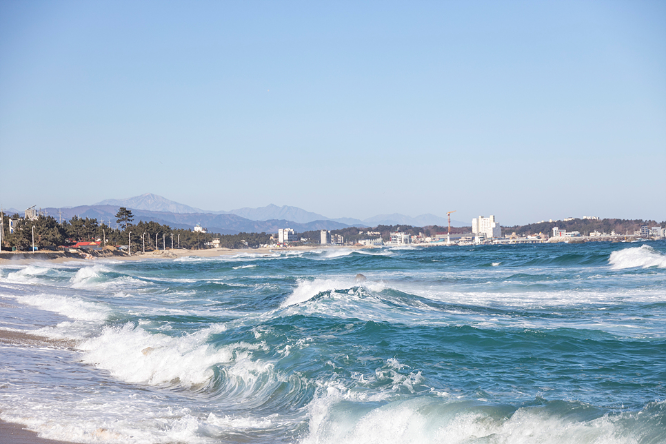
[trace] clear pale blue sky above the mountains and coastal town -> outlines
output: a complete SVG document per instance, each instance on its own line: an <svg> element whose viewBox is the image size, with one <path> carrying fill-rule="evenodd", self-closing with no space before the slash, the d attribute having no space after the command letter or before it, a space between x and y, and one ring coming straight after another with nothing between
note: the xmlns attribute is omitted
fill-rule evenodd
<svg viewBox="0 0 666 444"><path fill-rule="evenodd" d="M0 1L0 204L666 219L663 1Z"/></svg>

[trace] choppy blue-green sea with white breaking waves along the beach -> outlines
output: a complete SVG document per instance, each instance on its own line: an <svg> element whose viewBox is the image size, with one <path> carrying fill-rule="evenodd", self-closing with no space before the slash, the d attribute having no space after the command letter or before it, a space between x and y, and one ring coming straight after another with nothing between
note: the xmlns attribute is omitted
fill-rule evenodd
<svg viewBox="0 0 666 444"><path fill-rule="evenodd" d="M0 327L65 441L666 443L664 241L4 265Z"/></svg>

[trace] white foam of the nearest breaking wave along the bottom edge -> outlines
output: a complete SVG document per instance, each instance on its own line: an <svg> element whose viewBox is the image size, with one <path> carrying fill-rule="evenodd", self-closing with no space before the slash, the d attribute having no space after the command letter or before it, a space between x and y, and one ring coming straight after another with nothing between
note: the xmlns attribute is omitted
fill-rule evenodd
<svg viewBox="0 0 666 444"><path fill-rule="evenodd" d="M465 401L425 398L392 402L355 414L359 410L340 405L341 398L329 391L311 403L310 434L302 444L636 443L634 430L626 430L619 415L573 421L536 407L519 409L506 418Z"/></svg>

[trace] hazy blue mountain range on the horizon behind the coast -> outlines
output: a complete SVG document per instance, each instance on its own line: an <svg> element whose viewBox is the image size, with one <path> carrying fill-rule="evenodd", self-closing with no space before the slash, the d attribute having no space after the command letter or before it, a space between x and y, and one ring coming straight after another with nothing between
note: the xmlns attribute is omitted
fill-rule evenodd
<svg viewBox="0 0 666 444"><path fill-rule="evenodd" d="M106 199L94 205L72 208L43 208L46 214L56 219L71 219L72 216L91 217L114 226L119 207L132 210L134 221L155 221L174 228L192 228L197 223L210 232L236 234L239 232L277 232L279 228L293 228L296 232L310 230L339 230L350 226L374 227L376 225L447 225L447 219L434 214L410 217L405 214L379 214L368 219L330 219L322 214L302 208L283 205L266 205L261 208L239 208L230 211L201 210L183 203L170 201L157 194L141 194L127 199ZM14 214L17 210L6 210ZM21 214L22 212L18 212ZM469 225L452 221L458 226Z"/></svg>

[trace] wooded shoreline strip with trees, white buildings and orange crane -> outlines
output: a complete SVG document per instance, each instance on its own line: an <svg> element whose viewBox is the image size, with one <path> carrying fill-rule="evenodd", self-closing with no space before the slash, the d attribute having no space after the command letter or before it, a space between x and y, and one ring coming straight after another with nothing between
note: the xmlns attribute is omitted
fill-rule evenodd
<svg viewBox="0 0 666 444"><path fill-rule="evenodd" d="M585 243L585 242L627 242L665 239L666 228L660 225L640 225L634 221L629 232L603 230L603 221L596 216L583 218L567 217L561 220L539 221L534 226L540 231L523 230L509 232L503 228L494 215L478 216L472 219L471 226L452 227L449 216L447 227L410 225L378 225L374 228L345 228L343 230L319 230L296 232L285 227L277 233L216 234L196 224L188 230L173 229L148 221L132 224L132 211L119 208L116 227L97 219L73 217L69 221L57 221L34 205L23 212L23 216L1 214L0 246L3 251L25 252L40 250L60 250L63 252L91 254L145 254L166 250L206 250L242 248L293 248L314 245L355 246L357 248L418 246L465 246L465 245L515 245L521 243ZM565 227L592 227L581 232ZM124 227L123 227L124 225ZM606 224L608 225L608 224ZM609 225L612 226L612 225ZM620 226L620 225L617 225ZM627 226L626 223L621 226ZM595 228L596 227L596 228ZM527 225L527 228L532 228Z"/></svg>

